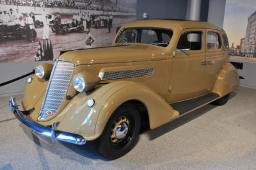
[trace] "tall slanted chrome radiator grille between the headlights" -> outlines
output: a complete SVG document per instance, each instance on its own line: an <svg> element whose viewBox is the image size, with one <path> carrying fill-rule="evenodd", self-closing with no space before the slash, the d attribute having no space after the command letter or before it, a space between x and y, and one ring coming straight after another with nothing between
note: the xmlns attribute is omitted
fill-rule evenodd
<svg viewBox="0 0 256 170"><path fill-rule="evenodd" d="M38 120L51 118L58 111L67 92L73 70L74 65L72 63L56 61Z"/></svg>

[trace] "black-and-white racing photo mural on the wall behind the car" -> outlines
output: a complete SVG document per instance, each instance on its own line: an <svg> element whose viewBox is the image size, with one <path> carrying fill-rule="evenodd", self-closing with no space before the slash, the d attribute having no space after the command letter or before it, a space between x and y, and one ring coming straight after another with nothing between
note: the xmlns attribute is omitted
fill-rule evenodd
<svg viewBox="0 0 256 170"><path fill-rule="evenodd" d="M111 45L137 0L0 0L0 63L54 60L61 50Z"/></svg>

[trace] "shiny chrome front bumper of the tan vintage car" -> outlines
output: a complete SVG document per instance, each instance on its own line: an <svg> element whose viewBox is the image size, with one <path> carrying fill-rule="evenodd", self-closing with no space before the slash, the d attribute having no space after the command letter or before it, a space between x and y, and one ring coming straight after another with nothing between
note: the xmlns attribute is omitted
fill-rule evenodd
<svg viewBox="0 0 256 170"><path fill-rule="evenodd" d="M52 141L65 141L67 143L73 144L85 144L86 141L81 135L72 134L69 132L63 132L60 130L56 130L56 124L53 122L52 127L45 127L36 123L35 121L29 120L29 118L24 115L24 112L20 111L18 106L15 104L15 98L10 98L9 100L9 107L16 118L21 121L24 125L31 128L35 132L38 132L42 135L48 136L52 138Z"/></svg>

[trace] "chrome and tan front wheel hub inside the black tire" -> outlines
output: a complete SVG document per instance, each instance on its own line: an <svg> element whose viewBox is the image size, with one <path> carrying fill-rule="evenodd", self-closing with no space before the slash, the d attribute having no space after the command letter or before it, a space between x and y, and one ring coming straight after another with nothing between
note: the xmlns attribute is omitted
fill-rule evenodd
<svg viewBox="0 0 256 170"><path fill-rule="evenodd" d="M111 128L110 139L113 143L120 143L123 139L125 139L127 132L129 129L129 120L125 118L125 116L120 116L113 123Z"/></svg>

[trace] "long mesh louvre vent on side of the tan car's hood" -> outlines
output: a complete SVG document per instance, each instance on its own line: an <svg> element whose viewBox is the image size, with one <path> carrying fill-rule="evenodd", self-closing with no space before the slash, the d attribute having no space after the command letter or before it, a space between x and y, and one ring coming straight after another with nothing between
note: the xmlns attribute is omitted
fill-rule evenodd
<svg viewBox="0 0 256 170"><path fill-rule="evenodd" d="M141 68L136 70L120 70L115 72L100 72L99 77L101 80L111 80L111 79L124 79L131 77L144 77L152 75L154 68Z"/></svg>

